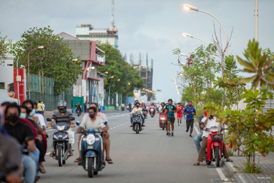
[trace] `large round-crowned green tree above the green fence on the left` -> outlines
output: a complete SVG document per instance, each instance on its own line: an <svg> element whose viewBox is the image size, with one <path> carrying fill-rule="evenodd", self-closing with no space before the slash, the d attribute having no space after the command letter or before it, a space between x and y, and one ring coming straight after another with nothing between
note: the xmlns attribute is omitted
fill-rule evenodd
<svg viewBox="0 0 274 183"><path fill-rule="evenodd" d="M28 53L39 46L43 49L32 51L29 55L30 73L42 73L55 81L55 92L60 93L71 88L80 74L81 61L72 61L74 55L68 43L53 34L50 27L30 28L21 35L12 53L20 65L28 66Z"/></svg>

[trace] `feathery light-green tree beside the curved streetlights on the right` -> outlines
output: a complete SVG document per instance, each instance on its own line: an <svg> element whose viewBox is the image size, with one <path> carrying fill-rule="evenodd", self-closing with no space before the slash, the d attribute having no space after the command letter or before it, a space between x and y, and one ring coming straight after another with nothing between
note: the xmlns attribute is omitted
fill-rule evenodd
<svg viewBox="0 0 274 183"><path fill-rule="evenodd" d="M223 100L222 91L214 88L212 84L215 74L221 71L221 65L214 57L216 46L201 45L195 51L186 59L186 63L182 63L180 49L173 50L173 54L178 55L178 66L182 70L178 73L178 77L182 79L182 86L192 95L191 100L202 106L207 102L219 104Z"/></svg>

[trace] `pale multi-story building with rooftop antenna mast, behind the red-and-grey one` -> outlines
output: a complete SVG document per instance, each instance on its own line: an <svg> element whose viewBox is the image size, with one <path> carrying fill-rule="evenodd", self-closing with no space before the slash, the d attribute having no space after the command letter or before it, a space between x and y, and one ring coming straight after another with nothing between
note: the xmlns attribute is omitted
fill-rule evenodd
<svg viewBox="0 0 274 183"><path fill-rule="evenodd" d="M93 28L91 24L76 26L76 37L81 40L100 41L118 48L118 30L107 28Z"/></svg>

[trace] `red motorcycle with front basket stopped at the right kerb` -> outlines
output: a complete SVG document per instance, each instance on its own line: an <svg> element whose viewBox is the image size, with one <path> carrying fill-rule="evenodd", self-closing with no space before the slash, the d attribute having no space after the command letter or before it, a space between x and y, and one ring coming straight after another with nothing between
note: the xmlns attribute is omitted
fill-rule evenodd
<svg viewBox="0 0 274 183"><path fill-rule="evenodd" d="M207 130L208 132L211 132L207 137L207 148L204 156L207 165L210 165L212 161L215 161L216 166L220 166L223 152L223 134L218 134L218 132L222 130L222 128L218 128L217 126L212 126Z"/></svg>

